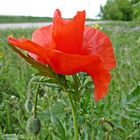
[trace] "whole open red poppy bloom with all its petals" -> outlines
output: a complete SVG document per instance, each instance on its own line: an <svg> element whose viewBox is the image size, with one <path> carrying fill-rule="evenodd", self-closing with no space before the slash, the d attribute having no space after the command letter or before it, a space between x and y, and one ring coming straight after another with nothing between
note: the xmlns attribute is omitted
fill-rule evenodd
<svg viewBox="0 0 140 140"><path fill-rule="evenodd" d="M72 20L63 20L56 10L53 23L34 31L32 41L9 37L8 42L26 50L39 63L51 66L57 74L86 72L93 79L98 101L107 93L109 72L116 61L108 36L84 23L85 11L77 12Z"/></svg>

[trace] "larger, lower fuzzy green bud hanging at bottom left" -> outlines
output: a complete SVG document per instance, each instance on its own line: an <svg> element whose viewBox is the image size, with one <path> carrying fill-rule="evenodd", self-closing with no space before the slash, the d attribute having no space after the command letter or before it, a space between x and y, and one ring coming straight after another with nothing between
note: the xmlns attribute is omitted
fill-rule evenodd
<svg viewBox="0 0 140 140"><path fill-rule="evenodd" d="M41 122L39 118L35 118L32 116L28 121L26 125L26 131L28 133L31 133L33 135L38 135L41 129Z"/></svg>

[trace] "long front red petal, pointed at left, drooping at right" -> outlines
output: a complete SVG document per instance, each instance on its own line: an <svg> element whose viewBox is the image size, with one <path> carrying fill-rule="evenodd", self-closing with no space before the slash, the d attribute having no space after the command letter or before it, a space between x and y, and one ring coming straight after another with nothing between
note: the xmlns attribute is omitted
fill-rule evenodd
<svg viewBox="0 0 140 140"><path fill-rule="evenodd" d="M100 57L96 55L72 55L57 50L45 49L29 40L9 38L9 44L47 61L57 74L73 75L78 72L88 73L94 81L94 97L96 101L103 98L108 90L111 76Z"/></svg>

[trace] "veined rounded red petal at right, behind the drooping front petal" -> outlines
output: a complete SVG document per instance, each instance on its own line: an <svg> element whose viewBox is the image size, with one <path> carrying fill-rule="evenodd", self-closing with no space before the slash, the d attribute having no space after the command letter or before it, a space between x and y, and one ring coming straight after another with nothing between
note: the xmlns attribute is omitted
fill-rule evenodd
<svg viewBox="0 0 140 140"><path fill-rule="evenodd" d="M85 27L82 53L99 56L108 70L116 66L112 44L108 36L99 30Z"/></svg>

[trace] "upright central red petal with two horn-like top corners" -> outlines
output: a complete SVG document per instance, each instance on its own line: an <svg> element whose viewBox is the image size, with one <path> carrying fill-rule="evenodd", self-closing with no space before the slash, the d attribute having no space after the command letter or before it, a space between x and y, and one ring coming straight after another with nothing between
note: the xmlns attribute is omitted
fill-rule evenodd
<svg viewBox="0 0 140 140"><path fill-rule="evenodd" d="M65 53L79 53L82 47L85 11L77 12L71 20L61 19L61 13L56 10L53 21L53 38L56 50Z"/></svg>

